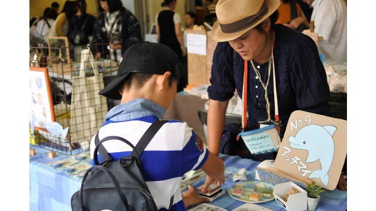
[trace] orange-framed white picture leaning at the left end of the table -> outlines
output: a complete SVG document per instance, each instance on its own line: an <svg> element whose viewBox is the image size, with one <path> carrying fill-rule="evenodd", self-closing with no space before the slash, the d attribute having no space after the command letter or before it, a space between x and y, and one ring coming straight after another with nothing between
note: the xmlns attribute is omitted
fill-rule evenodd
<svg viewBox="0 0 376 211"><path fill-rule="evenodd" d="M34 118L34 128L47 131L46 123L55 121L54 103L48 69L30 67L30 120Z"/></svg>

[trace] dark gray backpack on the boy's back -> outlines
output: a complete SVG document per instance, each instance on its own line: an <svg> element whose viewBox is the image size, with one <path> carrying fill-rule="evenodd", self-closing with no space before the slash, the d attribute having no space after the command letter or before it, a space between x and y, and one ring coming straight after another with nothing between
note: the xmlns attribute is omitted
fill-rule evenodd
<svg viewBox="0 0 376 211"><path fill-rule="evenodd" d="M99 140L98 131L93 154L95 166L86 171L80 190L72 195L72 210L158 210L142 176L140 155L165 122L167 121L157 120L152 123L136 146L119 136L107 136ZM112 160L102 143L113 139L132 147L131 154L120 160ZM101 163L98 162L98 151ZM172 203L173 195L168 210L172 209Z"/></svg>

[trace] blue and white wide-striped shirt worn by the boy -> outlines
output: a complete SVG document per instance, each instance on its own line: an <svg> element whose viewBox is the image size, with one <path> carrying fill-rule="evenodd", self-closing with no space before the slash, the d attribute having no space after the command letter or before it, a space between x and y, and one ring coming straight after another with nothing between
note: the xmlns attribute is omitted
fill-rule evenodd
<svg viewBox="0 0 376 211"><path fill-rule="evenodd" d="M157 119L156 115L147 115L125 121L106 120L99 131L99 139L116 135L136 145ZM94 137L90 146L91 154L95 148ZM108 140L103 145L115 160L131 152L131 147L119 140ZM189 170L200 169L208 155L209 151L201 138L185 122L169 120L158 130L141 154L141 169L159 210L168 209L172 195L173 210L185 210L180 193L182 176ZM101 160L99 154L98 159Z"/></svg>

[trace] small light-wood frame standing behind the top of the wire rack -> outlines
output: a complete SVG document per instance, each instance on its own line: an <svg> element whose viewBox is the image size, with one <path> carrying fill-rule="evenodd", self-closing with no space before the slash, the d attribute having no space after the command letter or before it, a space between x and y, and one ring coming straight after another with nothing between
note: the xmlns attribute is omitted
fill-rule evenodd
<svg viewBox="0 0 376 211"><path fill-rule="evenodd" d="M69 41L66 36L49 36L48 37L48 51L52 63L60 63L59 54L64 59L64 62L71 63L71 56L69 52Z"/></svg>

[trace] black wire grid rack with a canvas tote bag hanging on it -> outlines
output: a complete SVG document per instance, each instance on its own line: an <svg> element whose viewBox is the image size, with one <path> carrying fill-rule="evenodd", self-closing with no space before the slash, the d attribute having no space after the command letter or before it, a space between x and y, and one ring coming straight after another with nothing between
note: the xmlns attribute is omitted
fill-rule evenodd
<svg viewBox="0 0 376 211"><path fill-rule="evenodd" d="M90 149L90 141L99 129L98 125L104 122L104 116L108 110L119 103L117 100L105 98L98 100L98 97L95 96L99 87L107 85L116 76L118 63L109 59L107 44L73 47L61 47L58 43L55 45L56 47L48 47L44 43L31 44L30 66L48 68L55 121L63 128L69 127L69 130L65 140L59 136L52 136L47 130L36 130L33 134L34 143L65 154L81 153ZM97 66L101 79L86 84L77 83L77 81L85 81L85 79L94 76L93 68L87 64L88 61L81 62L81 52L88 48L90 49L88 54L93 55L93 63ZM80 76L80 65L82 64L86 66L84 77ZM92 91L94 94L82 91L75 93L76 86L87 86L86 90ZM75 94L78 94L78 97L74 97ZM77 103L80 104L78 106L80 109L73 106ZM98 107L101 108L97 109ZM75 131L72 131L73 129Z"/></svg>

